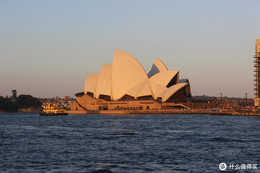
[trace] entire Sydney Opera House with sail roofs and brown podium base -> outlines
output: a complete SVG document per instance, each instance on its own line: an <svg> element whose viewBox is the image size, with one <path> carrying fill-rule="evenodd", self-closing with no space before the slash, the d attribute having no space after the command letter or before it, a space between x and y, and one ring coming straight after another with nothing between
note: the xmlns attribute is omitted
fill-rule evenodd
<svg viewBox="0 0 260 173"><path fill-rule="evenodd" d="M188 79L155 59L149 73L130 54L115 50L113 64L88 73L84 92L71 110L147 110L176 106L191 99Z"/></svg>

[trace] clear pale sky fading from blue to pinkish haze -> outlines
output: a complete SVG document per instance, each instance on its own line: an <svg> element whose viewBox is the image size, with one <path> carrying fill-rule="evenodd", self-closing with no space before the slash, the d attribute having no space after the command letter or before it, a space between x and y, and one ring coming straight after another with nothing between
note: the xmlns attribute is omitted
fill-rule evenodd
<svg viewBox="0 0 260 173"><path fill-rule="evenodd" d="M0 1L0 94L84 91L115 49L146 73L155 58L192 95L254 98L260 1Z"/></svg>

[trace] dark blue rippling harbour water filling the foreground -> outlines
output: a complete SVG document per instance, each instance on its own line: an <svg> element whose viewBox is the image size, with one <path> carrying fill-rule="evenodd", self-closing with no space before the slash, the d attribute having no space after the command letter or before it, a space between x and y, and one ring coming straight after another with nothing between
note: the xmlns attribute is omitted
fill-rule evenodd
<svg viewBox="0 0 260 173"><path fill-rule="evenodd" d="M5 173L259 172L259 151L260 116L0 114Z"/></svg>

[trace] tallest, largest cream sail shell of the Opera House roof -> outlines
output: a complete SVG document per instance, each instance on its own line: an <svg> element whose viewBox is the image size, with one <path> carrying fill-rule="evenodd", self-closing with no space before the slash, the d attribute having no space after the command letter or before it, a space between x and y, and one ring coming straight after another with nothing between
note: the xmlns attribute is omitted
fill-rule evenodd
<svg viewBox="0 0 260 173"><path fill-rule="evenodd" d="M144 80L148 80L148 76L141 64L130 54L116 49L112 68L113 100L122 98Z"/></svg>

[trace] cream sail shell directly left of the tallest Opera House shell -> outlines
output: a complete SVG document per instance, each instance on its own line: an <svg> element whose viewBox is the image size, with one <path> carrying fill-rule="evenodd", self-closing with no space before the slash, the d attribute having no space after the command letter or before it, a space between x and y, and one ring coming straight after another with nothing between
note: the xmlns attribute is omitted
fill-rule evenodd
<svg viewBox="0 0 260 173"><path fill-rule="evenodd" d="M111 88L112 88L112 65L103 64L97 80L96 93L94 95L95 98L98 99L100 94L111 95Z"/></svg>

